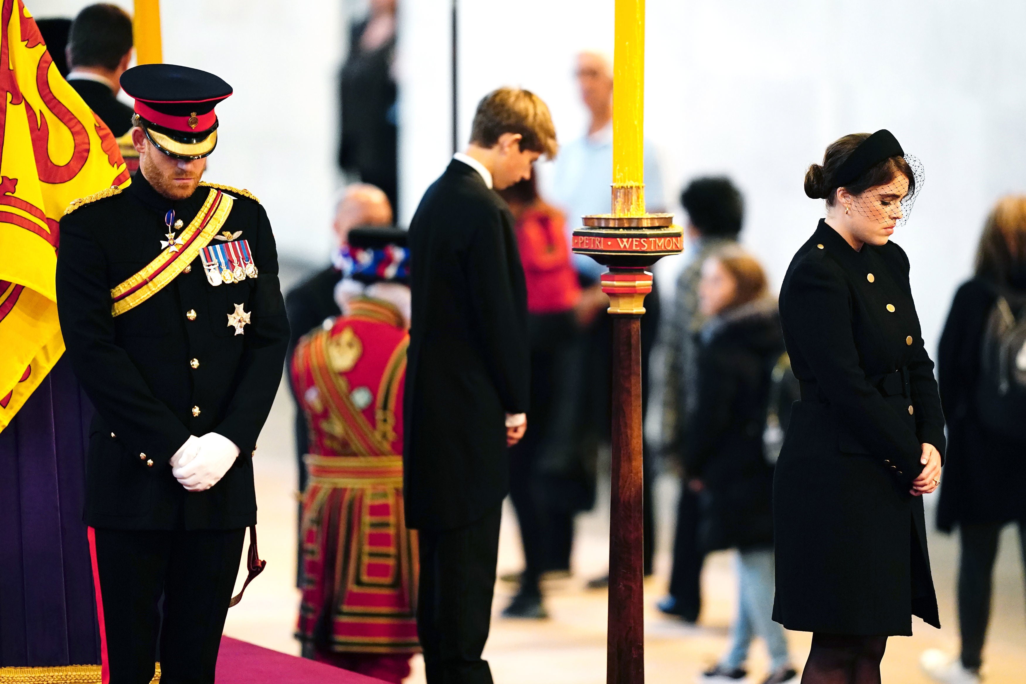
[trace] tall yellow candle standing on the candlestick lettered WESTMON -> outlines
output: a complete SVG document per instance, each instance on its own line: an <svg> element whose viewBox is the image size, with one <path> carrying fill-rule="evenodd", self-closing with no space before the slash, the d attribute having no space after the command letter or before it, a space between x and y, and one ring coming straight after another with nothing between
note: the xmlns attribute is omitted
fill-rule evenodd
<svg viewBox="0 0 1026 684"><path fill-rule="evenodd" d="M644 0L616 1L616 47L613 55L613 212L638 216L645 211Z"/></svg>

